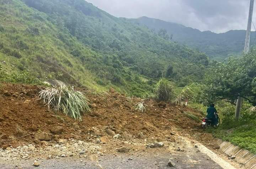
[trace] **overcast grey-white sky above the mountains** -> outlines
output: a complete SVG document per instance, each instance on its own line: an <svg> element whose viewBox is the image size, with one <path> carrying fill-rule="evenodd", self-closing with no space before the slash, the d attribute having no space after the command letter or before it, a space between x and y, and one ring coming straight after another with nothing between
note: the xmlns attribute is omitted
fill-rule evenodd
<svg viewBox="0 0 256 169"><path fill-rule="evenodd" d="M231 29L246 29L250 4L250 0L87 1L116 17L147 16L217 33ZM253 21L256 25L256 17ZM253 26L252 28L254 29Z"/></svg>

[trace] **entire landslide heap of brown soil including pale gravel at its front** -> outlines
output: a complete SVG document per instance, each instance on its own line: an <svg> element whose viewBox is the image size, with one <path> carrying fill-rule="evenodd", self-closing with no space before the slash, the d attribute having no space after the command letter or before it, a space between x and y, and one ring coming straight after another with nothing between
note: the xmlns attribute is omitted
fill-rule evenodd
<svg viewBox="0 0 256 169"><path fill-rule="evenodd" d="M190 112L199 118L203 117L189 107L149 99L144 101L146 111L140 112L134 107L142 101L140 98L129 98L113 90L102 97L92 91L78 89L86 93L92 106L92 112L84 114L82 121L78 121L61 112L48 110L38 100L38 92L42 88L40 86L7 83L0 85L0 147L6 149L0 153L6 157L5 160L12 158L8 152L13 151L17 155L21 151L22 154L18 156L22 158L27 158L30 154L38 159L46 159L56 154L61 156L62 152L70 157L78 154L81 158L83 145L88 147L91 154L104 156L115 154L120 147L128 148L129 153L134 155L148 152L146 145L154 142L165 142L163 150L172 147L175 151L183 145L180 136L198 140L212 149L216 148L213 136L202 132L201 122L196 122L184 113ZM58 127L63 128L63 131L53 134L52 131ZM35 139L38 133L47 133L53 139L38 141ZM116 134L120 134L119 139L113 139ZM68 142L62 145L60 139L67 139ZM100 144L96 144L99 139ZM79 147L78 140L83 142L82 147ZM37 151L27 154L26 145L37 148Z"/></svg>

